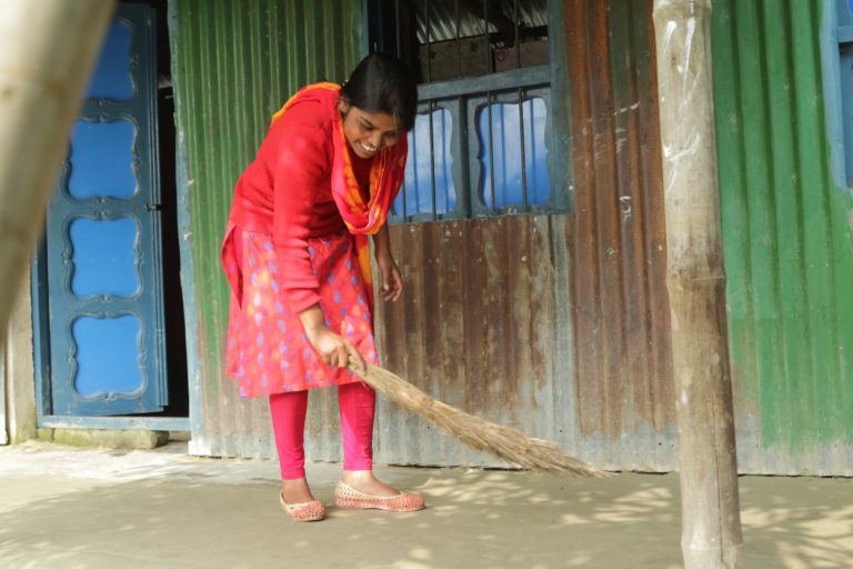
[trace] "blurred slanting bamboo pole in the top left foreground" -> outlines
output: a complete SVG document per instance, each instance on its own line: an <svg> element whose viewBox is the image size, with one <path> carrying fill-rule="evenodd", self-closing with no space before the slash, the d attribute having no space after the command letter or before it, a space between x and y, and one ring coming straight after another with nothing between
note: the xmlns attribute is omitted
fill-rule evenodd
<svg viewBox="0 0 853 569"><path fill-rule="evenodd" d="M0 346L113 7L0 6Z"/></svg>

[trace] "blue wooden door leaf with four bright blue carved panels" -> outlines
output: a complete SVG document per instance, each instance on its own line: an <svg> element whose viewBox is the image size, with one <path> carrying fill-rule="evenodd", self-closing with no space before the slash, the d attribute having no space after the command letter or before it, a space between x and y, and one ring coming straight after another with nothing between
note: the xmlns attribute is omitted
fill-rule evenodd
<svg viewBox="0 0 853 569"><path fill-rule="evenodd" d="M167 405L153 34L117 9L48 211L52 415Z"/></svg>

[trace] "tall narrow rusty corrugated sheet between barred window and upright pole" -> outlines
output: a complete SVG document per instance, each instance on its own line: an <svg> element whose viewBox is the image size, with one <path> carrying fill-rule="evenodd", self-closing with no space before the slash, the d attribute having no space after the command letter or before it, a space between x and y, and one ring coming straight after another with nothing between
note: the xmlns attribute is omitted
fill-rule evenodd
<svg viewBox="0 0 853 569"><path fill-rule="evenodd" d="M580 429L663 432L674 400L651 2L564 6Z"/></svg>

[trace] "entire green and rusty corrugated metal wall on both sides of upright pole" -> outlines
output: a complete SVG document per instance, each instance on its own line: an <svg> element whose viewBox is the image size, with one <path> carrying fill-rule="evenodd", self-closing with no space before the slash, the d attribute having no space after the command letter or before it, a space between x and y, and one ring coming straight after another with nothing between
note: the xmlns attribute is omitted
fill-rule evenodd
<svg viewBox="0 0 853 569"><path fill-rule="evenodd" d="M172 9L201 453L273 453L265 403L239 401L222 379L218 252L233 182L269 116L298 86L340 80L358 59L359 2L305 6L179 0ZM669 470L652 0L561 6L571 213L394 227L408 291L380 307L378 337L392 370L451 405L598 465ZM343 23L323 18L332 12ZM850 473L853 465L851 204L827 170L819 21L812 3L794 0L714 3L737 436L750 472ZM334 460L334 402L312 397L309 452ZM494 463L385 402L378 459Z"/></svg>

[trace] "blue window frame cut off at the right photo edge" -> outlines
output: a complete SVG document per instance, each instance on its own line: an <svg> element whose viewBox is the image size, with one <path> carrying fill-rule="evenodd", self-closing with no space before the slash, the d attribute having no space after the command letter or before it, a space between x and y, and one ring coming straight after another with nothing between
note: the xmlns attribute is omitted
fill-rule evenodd
<svg viewBox="0 0 853 569"><path fill-rule="evenodd" d="M853 189L853 0L824 0L823 80L833 177Z"/></svg>

